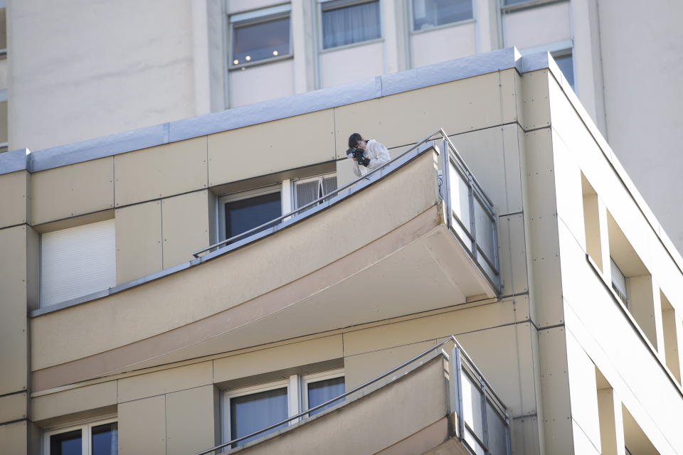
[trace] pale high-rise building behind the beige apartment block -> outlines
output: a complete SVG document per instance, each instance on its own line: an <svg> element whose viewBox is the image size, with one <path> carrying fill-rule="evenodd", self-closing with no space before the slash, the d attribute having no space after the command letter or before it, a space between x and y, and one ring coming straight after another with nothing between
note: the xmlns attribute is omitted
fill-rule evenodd
<svg viewBox="0 0 683 455"><path fill-rule="evenodd" d="M8 11L9 149L33 151L513 45L549 50L683 248L671 197L683 191L680 1L10 1Z"/></svg>

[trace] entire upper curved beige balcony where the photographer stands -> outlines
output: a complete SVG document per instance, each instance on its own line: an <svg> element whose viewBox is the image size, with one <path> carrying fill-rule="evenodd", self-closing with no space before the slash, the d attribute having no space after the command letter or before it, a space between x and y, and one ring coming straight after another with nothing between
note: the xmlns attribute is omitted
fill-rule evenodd
<svg viewBox="0 0 683 455"><path fill-rule="evenodd" d="M499 291L492 204L443 132L270 225L33 317L36 390Z"/></svg>

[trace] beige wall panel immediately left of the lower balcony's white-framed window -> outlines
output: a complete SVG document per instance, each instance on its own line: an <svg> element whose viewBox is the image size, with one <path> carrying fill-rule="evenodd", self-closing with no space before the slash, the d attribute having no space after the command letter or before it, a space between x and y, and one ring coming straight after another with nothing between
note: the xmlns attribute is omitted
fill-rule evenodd
<svg viewBox="0 0 683 455"><path fill-rule="evenodd" d="M166 395L166 455L196 454L216 444L213 385Z"/></svg>

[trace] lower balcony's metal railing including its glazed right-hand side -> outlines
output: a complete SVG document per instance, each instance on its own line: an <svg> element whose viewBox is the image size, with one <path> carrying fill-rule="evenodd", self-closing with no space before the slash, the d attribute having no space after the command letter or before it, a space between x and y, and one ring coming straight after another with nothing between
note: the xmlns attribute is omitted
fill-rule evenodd
<svg viewBox="0 0 683 455"><path fill-rule="evenodd" d="M462 444L465 444L465 446L470 449L472 454L481 453L483 450L485 454L509 455L512 449L510 443L510 418L506 407L453 335L446 337L443 341L436 343L431 348L423 350L423 352L406 360L401 363L401 365L391 368L391 370L354 387L348 392L344 392L338 397L332 398L332 400L327 400L320 405L311 407L299 414L260 429L257 432L231 439L223 444L213 446L211 449L198 452L197 455L211 454L217 450L238 444L240 441L245 441L245 439L250 439L259 434L276 429L283 424L288 424L289 422L302 417L308 417L308 414L311 412L320 410L335 402L339 402L344 399L344 397L348 397L349 395L373 385L387 376L408 367L415 361L425 357L425 355L432 353L434 350L441 349L449 342L453 343L451 355L447 355L443 350L442 353L450 360L450 387L448 390L448 398L450 400L449 412L455 412L457 416L458 425L457 434L455 436L460 439Z"/></svg>

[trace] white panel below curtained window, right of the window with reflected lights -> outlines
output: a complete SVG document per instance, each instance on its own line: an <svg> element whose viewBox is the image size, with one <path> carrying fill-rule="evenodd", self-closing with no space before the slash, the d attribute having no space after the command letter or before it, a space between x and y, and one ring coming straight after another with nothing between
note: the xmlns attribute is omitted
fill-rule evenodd
<svg viewBox="0 0 683 455"><path fill-rule="evenodd" d="M332 87L383 74L383 45L371 43L320 54L320 84Z"/></svg>

